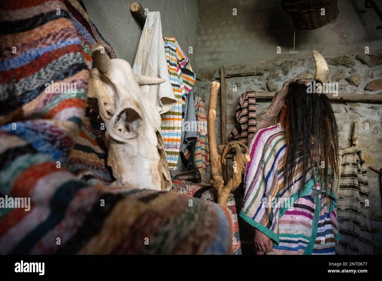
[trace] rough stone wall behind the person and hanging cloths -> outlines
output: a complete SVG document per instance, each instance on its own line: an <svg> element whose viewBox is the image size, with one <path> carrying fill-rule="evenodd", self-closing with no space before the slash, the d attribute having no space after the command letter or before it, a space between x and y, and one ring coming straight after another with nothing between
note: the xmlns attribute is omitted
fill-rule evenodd
<svg viewBox="0 0 382 281"><path fill-rule="evenodd" d="M325 57L329 65L329 82L337 82L339 93L379 94L382 92L382 49L375 55L337 54ZM292 70L293 68L293 70ZM226 79L227 92L227 135L235 125L235 109L244 91L278 91L285 81L298 76L312 80L315 73L313 56L283 55L279 59L247 65L226 66L227 73L264 71L261 76L248 76ZM206 100L208 109L211 81L220 75L220 68L202 68L197 71L194 94ZM219 81L219 80L216 80ZM234 92L234 87L237 91ZM256 102L257 122L261 122L270 104L270 100L259 99ZM355 120L359 120L359 144L364 153L367 166L382 167L382 104L370 102L333 102L337 118L340 148L351 146L351 132ZM221 144L220 101L217 108L216 134L218 145ZM368 125L367 125L368 124ZM367 129L367 126L369 127ZM365 129L366 128L366 129ZM374 232L374 250L382 252L382 202L379 191L379 179L371 170L367 171L370 188L370 215ZM240 197L240 196L239 196ZM240 208L240 198L237 201ZM248 229L247 229L248 231ZM243 239L245 239L245 230ZM247 236L248 237L248 236Z"/></svg>

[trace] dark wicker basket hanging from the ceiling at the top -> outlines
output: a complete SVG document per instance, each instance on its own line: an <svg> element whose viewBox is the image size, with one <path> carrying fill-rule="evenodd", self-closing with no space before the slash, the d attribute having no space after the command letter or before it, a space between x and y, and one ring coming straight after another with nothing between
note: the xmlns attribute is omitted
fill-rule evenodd
<svg viewBox="0 0 382 281"><path fill-rule="evenodd" d="M281 6L291 16L297 30L320 28L333 23L338 15L337 0L283 0Z"/></svg>

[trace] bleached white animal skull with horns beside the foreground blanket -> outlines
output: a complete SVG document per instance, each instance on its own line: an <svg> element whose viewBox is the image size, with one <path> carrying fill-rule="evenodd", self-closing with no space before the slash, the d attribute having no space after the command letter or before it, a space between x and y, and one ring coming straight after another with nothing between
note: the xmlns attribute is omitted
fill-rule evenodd
<svg viewBox="0 0 382 281"><path fill-rule="evenodd" d="M95 68L90 71L88 97L97 99L99 115L105 123L107 163L116 184L168 190L172 182L160 114L140 88L165 80L135 75L128 62L110 60L104 50L101 43L92 48Z"/></svg>

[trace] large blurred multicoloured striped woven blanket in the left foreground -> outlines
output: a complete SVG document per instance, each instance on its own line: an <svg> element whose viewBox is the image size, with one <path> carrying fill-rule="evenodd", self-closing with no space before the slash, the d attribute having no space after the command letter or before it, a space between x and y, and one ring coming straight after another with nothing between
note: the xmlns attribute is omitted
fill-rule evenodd
<svg viewBox="0 0 382 281"><path fill-rule="evenodd" d="M231 253L225 208L104 183L100 122L84 117L90 45L104 40L83 3L8 1L0 18L0 254Z"/></svg>

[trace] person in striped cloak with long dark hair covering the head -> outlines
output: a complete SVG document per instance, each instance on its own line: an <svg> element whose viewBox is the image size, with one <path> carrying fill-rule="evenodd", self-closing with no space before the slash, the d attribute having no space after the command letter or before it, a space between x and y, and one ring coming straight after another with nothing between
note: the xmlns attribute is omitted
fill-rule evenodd
<svg viewBox="0 0 382 281"><path fill-rule="evenodd" d="M328 97L307 83L284 84L249 143L240 216L256 229L258 254L335 254L340 238L337 123Z"/></svg>

